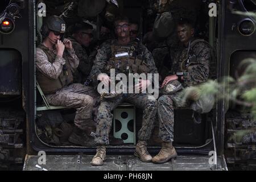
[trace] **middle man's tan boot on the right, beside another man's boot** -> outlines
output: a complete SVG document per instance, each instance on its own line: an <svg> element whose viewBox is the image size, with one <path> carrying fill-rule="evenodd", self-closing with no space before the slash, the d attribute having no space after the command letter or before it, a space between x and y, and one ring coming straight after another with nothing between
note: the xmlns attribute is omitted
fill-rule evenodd
<svg viewBox="0 0 256 182"><path fill-rule="evenodd" d="M141 159L143 162L151 162L152 156L147 151L147 142L139 140L137 143L134 156Z"/></svg>

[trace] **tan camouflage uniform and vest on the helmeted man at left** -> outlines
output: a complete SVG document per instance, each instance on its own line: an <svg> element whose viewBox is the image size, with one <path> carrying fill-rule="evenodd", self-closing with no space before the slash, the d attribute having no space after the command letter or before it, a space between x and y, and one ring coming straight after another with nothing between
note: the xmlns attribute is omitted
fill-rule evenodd
<svg viewBox="0 0 256 182"><path fill-rule="evenodd" d="M64 65L68 67L68 80L64 76ZM36 79L47 101L53 106L75 108L75 125L86 130L86 122L92 121L93 98L96 93L88 86L72 84L72 72L75 72L78 65L79 59L73 49L65 49L63 57L59 57L56 50L51 51L43 44L36 48Z"/></svg>

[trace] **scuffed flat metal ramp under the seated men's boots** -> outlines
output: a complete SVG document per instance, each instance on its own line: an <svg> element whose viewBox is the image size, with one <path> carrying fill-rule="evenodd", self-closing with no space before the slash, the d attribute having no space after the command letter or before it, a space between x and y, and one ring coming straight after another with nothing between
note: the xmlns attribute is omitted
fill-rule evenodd
<svg viewBox="0 0 256 182"><path fill-rule="evenodd" d="M177 156L164 164L144 163L131 155L107 156L104 165L90 165L89 155L47 155L46 164L39 165L40 156L26 156L24 171L222 171L225 160L217 158L217 165L209 164L210 156ZM38 167L36 167L38 165ZM40 168L41 167L41 168Z"/></svg>

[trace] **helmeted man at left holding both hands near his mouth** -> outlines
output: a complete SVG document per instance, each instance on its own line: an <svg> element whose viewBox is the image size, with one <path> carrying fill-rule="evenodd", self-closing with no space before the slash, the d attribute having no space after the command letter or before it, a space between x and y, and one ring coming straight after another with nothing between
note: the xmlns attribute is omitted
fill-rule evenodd
<svg viewBox="0 0 256 182"><path fill-rule="evenodd" d="M72 43L64 36L65 22L59 16L49 16L41 28L43 43L36 48L36 80L46 99L53 106L66 106L76 109L75 129L69 142L88 145L92 129L93 98L96 92L92 87L73 84L73 75L79 65Z"/></svg>

